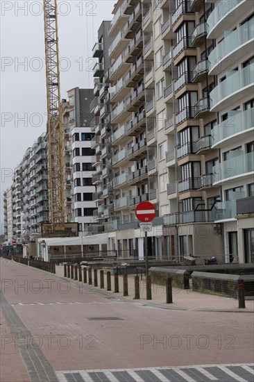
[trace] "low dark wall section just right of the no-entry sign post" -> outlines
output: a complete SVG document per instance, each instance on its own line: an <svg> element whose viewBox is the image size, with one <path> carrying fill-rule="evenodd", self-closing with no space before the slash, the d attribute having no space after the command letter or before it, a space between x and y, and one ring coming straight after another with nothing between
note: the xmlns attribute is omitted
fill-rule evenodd
<svg viewBox="0 0 254 382"><path fill-rule="evenodd" d="M191 272L186 269L173 269L151 267L149 268L149 274L151 274L151 280L158 285L165 285L167 277L172 277L173 286L176 288L189 289L189 277Z"/></svg>

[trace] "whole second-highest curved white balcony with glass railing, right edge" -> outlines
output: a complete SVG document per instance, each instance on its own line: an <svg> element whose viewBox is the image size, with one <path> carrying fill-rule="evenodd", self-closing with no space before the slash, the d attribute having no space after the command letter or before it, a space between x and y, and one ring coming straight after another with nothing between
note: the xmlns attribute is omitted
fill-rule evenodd
<svg viewBox="0 0 254 382"><path fill-rule="evenodd" d="M225 38L213 49L208 57L209 74L214 76L253 51L254 20L251 19L235 31L226 32Z"/></svg>

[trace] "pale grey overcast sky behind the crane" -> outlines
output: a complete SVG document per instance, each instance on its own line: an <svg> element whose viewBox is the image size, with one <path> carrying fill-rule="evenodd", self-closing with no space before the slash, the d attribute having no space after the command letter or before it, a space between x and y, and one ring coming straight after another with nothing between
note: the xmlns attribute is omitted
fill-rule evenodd
<svg viewBox="0 0 254 382"><path fill-rule="evenodd" d="M93 88L92 47L117 0L58 0L61 98ZM46 126L46 76L42 0L0 1L1 6L1 233L3 191L12 172ZM88 60L90 58L90 60ZM93 59L95 60L95 59Z"/></svg>

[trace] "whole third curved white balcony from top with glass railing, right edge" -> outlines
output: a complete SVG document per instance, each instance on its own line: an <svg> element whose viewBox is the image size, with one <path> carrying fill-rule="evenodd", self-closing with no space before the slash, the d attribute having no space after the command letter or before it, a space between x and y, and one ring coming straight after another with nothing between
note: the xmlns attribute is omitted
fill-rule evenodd
<svg viewBox="0 0 254 382"><path fill-rule="evenodd" d="M229 107L232 103L253 97L254 63L240 70L226 72L226 79L210 92L210 111Z"/></svg>

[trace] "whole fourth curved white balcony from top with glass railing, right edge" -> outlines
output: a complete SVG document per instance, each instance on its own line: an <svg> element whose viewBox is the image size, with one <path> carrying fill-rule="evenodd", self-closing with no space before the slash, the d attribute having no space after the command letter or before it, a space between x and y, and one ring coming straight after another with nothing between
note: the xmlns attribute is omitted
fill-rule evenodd
<svg viewBox="0 0 254 382"><path fill-rule="evenodd" d="M212 148L219 149L225 144L231 144L242 139L242 135L253 135L254 130L254 108L228 112L228 119L217 124L212 129Z"/></svg>

